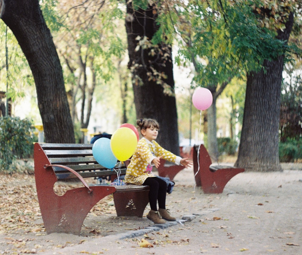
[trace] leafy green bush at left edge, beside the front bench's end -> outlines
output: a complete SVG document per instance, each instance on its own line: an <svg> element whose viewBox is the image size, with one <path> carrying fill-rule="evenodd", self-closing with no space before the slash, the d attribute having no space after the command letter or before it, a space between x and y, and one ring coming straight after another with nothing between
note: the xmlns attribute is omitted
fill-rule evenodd
<svg viewBox="0 0 302 255"><path fill-rule="evenodd" d="M29 119L0 118L0 169L10 171L14 159L33 155L33 130L33 123Z"/></svg>

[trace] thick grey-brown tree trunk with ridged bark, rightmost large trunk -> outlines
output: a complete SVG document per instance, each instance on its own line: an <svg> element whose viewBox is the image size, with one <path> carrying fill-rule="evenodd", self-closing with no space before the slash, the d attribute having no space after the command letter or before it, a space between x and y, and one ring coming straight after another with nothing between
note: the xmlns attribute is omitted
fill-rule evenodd
<svg viewBox="0 0 302 255"><path fill-rule="evenodd" d="M287 41L293 15L278 39ZM246 82L243 127L236 167L246 171L281 171L279 162L279 121L284 55L264 61L259 72L250 72Z"/></svg>

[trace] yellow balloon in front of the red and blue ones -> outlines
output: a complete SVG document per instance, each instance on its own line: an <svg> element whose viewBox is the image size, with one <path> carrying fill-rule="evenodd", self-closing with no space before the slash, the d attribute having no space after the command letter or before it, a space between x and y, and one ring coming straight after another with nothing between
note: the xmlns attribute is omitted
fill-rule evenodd
<svg viewBox="0 0 302 255"><path fill-rule="evenodd" d="M136 150L137 136L130 128L118 128L111 136L110 146L114 156L120 161L125 161Z"/></svg>

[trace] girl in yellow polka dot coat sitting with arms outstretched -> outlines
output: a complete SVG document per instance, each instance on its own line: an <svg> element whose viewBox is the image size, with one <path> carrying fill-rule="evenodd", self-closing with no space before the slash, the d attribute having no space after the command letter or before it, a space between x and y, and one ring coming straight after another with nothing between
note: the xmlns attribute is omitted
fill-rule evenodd
<svg viewBox="0 0 302 255"><path fill-rule="evenodd" d="M132 184L149 185L149 204L151 207L147 218L154 223L163 224L165 220L175 221L165 208L167 183L152 173L153 165L158 168L161 158L176 165L190 167L193 162L188 158L181 158L162 148L155 140L159 131L159 124L153 119L137 120L140 132L143 135L137 144L125 175L125 182ZM157 211L157 202L159 209ZM165 219L165 220L164 220Z"/></svg>

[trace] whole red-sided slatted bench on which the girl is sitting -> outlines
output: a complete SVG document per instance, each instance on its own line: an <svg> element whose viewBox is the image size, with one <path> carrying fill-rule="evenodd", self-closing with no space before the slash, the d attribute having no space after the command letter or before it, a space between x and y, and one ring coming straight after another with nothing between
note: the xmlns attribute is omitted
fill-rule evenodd
<svg viewBox="0 0 302 255"><path fill-rule="evenodd" d="M126 173L125 163L120 167ZM53 232L80 235L88 212L102 198L113 194L117 216L142 217L149 203L149 186L95 185L89 187L85 178L117 177L95 161L92 144L35 143L34 171L40 211L47 234ZM83 187L67 190L63 196L54 192L56 181L80 180Z"/></svg>

